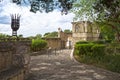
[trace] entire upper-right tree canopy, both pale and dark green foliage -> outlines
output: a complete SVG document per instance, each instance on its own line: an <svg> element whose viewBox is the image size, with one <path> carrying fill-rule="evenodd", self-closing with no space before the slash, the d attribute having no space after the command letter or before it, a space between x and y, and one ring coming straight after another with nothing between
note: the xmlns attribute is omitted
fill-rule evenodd
<svg viewBox="0 0 120 80"><path fill-rule="evenodd" d="M112 32L111 36L117 34L117 39L120 41L120 0L78 0L73 4L72 11L75 13L75 21L96 22L101 32L104 33L105 30L106 34Z"/></svg>

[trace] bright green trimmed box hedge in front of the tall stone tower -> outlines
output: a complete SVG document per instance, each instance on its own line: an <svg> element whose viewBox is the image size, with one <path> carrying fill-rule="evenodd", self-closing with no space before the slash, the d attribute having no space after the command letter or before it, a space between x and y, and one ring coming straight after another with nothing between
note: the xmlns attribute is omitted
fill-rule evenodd
<svg viewBox="0 0 120 80"><path fill-rule="evenodd" d="M105 45L104 44L92 44L92 43L77 43L75 45L79 55L89 55L92 57L101 57L105 55Z"/></svg>

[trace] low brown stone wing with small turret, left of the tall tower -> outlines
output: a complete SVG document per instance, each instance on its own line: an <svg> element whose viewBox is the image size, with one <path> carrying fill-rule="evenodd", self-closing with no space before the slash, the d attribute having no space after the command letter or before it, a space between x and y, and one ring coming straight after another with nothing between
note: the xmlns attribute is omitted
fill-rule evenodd
<svg viewBox="0 0 120 80"><path fill-rule="evenodd" d="M48 47L51 49L65 49L67 38L70 36L72 36L72 33L64 33L61 28L58 28L58 37L43 39L47 41Z"/></svg>

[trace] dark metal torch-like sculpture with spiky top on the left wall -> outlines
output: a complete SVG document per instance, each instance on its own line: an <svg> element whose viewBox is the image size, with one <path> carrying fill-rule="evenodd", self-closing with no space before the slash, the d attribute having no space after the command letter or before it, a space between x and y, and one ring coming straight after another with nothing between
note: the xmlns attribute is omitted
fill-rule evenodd
<svg viewBox="0 0 120 80"><path fill-rule="evenodd" d="M12 36L17 36L17 30L20 27L20 15L15 14L11 15L11 28L12 28Z"/></svg>

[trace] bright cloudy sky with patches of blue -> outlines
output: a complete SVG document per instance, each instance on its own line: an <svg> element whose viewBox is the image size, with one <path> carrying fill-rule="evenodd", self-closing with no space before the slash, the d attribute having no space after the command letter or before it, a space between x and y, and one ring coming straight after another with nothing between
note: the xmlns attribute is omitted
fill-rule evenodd
<svg viewBox="0 0 120 80"><path fill-rule="evenodd" d="M54 10L49 13L32 13L29 11L30 6L11 3L9 0L3 0L0 3L0 33L12 35L11 16L10 14L20 14L20 28L17 31L18 35L24 37L35 36L36 34L44 35L47 32L57 31L61 28L72 29L71 22L74 14L68 13L61 15L59 10Z"/></svg>

